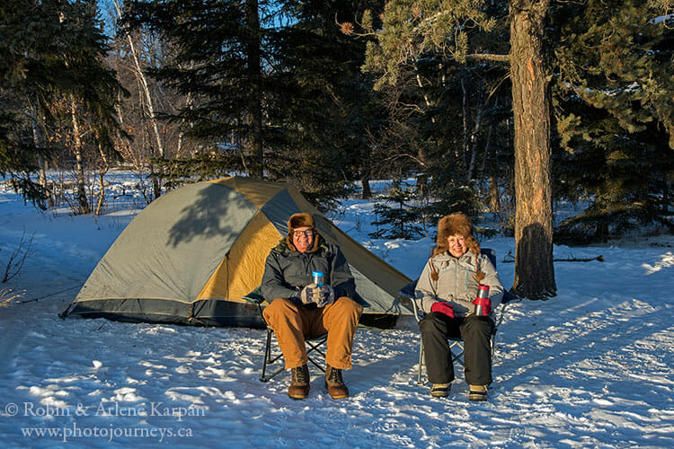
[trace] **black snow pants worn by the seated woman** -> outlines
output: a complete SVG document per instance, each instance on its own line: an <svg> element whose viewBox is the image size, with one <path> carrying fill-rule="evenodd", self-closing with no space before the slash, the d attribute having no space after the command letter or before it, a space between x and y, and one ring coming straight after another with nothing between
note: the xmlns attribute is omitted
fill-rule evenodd
<svg viewBox="0 0 674 449"><path fill-rule="evenodd" d="M454 380L454 365L448 338L464 340L464 376L470 385L492 383L492 329L488 316L470 315L449 318L443 313L428 313L419 322L426 372L430 383Z"/></svg>

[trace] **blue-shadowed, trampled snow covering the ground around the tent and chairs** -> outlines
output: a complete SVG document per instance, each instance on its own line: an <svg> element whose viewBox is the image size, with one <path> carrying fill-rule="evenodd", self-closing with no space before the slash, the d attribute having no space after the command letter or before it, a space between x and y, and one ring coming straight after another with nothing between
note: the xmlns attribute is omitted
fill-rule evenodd
<svg viewBox="0 0 674 449"><path fill-rule="evenodd" d="M370 239L371 211L345 201L336 223L418 277L430 238ZM58 318L136 214L40 213L0 189L2 271L33 236L22 271L0 284L0 303L21 295L0 307L3 447L674 447L672 236L555 246L556 258L606 261L555 262L558 295L507 305L486 402L467 400L460 367L447 399L416 384L409 317L358 330L350 398L331 399L312 369L310 397L294 401L288 374L259 381L262 330ZM513 239L481 244L510 286Z"/></svg>

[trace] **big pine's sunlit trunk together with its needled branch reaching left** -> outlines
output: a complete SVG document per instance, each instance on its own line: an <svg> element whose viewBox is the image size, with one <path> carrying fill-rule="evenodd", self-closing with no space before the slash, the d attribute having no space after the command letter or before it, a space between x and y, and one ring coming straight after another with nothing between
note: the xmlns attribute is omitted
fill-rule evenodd
<svg viewBox="0 0 674 449"><path fill-rule="evenodd" d="M529 298L556 292L553 266L553 222L548 67L545 65L545 21L552 0L501 2L426 2L391 0L377 30L378 45L368 45L366 67L381 76L379 85L395 84L402 66L413 65L434 49L466 60L499 61L510 69L515 150L517 254L513 290ZM362 18L375 31L371 14ZM469 39L473 30L494 31L510 25L510 48L501 53L498 39Z"/></svg>

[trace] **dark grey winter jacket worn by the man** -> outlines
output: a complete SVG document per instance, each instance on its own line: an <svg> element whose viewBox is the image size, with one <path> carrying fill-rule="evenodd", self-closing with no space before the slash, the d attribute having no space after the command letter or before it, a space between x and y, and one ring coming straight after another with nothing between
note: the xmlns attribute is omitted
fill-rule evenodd
<svg viewBox="0 0 674 449"><path fill-rule="evenodd" d="M316 234L317 248L312 252L291 249L282 239L267 257L262 276L262 295L268 302L289 298L313 282L312 272L323 271L324 282L334 288L334 297L354 298L356 285L344 255L337 245Z"/></svg>

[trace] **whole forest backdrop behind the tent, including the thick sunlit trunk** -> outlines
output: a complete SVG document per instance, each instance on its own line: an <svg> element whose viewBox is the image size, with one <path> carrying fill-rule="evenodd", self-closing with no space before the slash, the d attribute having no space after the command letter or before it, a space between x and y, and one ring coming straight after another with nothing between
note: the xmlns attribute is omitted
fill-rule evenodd
<svg viewBox="0 0 674 449"><path fill-rule="evenodd" d="M97 215L118 167L146 203L244 173L336 210L393 179L378 237L491 212L545 298L553 241L674 229L673 30L671 0L7 0L0 173Z"/></svg>

